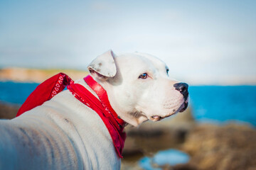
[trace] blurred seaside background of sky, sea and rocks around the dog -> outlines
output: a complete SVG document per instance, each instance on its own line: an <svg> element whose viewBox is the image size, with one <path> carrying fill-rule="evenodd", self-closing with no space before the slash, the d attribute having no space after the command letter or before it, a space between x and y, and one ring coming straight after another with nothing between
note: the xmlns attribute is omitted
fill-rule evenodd
<svg viewBox="0 0 256 170"><path fill-rule="evenodd" d="M122 169L256 169L256 1L0 1L0 118L112 49L187 82L184 113L127 127Z"/></svg>

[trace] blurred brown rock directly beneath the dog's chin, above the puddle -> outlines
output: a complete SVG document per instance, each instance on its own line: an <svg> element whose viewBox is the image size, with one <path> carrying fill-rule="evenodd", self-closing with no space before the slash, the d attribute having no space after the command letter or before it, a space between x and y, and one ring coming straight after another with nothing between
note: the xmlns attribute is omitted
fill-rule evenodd
<svg viewBox="0 0 256 170"><path fill-rule="evenodd" d="M159 122L147 121L139 128L129 125L125 128L124 162L137 161L143 156L151 157L159 150L178 147L194 125L190 109Z"/></svg>

